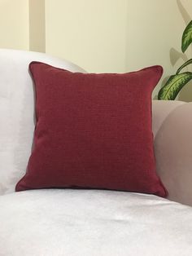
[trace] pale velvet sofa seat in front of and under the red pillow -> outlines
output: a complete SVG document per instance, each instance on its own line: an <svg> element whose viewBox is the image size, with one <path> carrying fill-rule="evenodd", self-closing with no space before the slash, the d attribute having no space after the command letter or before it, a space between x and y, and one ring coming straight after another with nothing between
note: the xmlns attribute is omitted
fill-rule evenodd
<svg viewBox="0 0 192 256"><path fill-rule="evenodd" d="M189 256L192 208L159 196L41 189L0 196L0 254Z"/></svg>

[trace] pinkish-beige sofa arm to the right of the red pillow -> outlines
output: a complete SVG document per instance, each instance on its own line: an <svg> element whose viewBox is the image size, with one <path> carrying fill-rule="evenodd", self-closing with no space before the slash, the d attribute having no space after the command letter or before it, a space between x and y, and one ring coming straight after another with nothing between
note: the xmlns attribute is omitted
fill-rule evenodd
<svg viewBox="0 0 192 256"><path fill-rule="evenodd" d="M153 101L156 168L168 198L192 205L192 103Z"/></svg>

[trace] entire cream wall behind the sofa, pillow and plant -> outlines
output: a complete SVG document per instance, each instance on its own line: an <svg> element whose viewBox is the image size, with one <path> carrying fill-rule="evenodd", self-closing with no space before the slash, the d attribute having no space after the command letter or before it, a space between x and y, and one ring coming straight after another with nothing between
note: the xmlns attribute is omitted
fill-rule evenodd
<svg viewBox="0 0 192 256"><path fill-rule="evenodd" d="M0 47L46 51L96 73L161 64L161 86L192 56L192 47L181 55L191 19L191 0L0 0ZM192 101L192 84L179 99Z"/></svg>

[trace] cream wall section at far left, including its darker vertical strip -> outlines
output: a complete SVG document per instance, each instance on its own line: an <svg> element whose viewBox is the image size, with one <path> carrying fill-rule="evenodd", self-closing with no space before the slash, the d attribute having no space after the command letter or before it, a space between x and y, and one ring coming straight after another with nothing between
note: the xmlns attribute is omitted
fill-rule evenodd
<svg viewBox="0 0 192 256"><path fill-rule="evenodd" d="M45 0L0 0L0 47L46 51Z"/></svg>

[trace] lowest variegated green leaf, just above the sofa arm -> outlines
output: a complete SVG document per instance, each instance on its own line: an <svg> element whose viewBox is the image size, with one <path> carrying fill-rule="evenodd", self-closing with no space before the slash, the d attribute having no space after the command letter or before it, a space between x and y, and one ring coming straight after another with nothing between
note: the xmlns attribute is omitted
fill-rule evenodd
<svg viewBox="0 0 192 256"><path fill-rule="evenodd" d="M159 90L158 99L175 99L182 87L191 79L191 72L179 73L169 77L168 82Z"/></svg>

